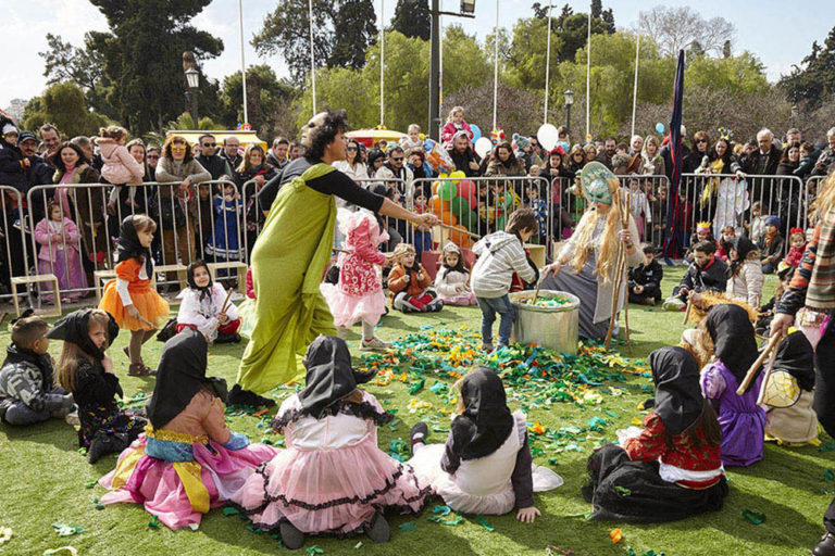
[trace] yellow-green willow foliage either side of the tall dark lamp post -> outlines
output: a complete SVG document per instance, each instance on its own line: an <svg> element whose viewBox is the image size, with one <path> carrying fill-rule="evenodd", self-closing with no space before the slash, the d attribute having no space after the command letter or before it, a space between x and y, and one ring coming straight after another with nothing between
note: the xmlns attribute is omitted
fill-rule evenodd
<svg viewBox="0 0 835 556"><path fill-rule="evenodd" d="M389 129L404 130L412 123L426 128L428 59L427 41L398 31L386 33L385 125ZM316 109L345 109L353 128L379 124L379 45L369 49L365 60L362 70L334 67L316 72ZM493 64L475 37L458 26L448 27L444 37L444 96L485 81L493 83ZM302 125L312 110L309 88L295 106L297 124Z"/></svg>

